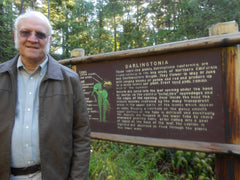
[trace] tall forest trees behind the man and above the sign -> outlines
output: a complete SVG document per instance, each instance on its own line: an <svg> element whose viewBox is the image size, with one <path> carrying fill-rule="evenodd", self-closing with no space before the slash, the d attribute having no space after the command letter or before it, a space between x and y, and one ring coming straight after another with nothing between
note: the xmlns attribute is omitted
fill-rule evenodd
<svg viewBox="0 0 240 180"><path fill-rule="evenodd" d="M240 22L239 0L3 0L0 3L1 61L16 51L13 20L33 7L50 14L54 29L51 54L70 57L75 48L86 55L152 46L208 36L213 24Z"/></svg>

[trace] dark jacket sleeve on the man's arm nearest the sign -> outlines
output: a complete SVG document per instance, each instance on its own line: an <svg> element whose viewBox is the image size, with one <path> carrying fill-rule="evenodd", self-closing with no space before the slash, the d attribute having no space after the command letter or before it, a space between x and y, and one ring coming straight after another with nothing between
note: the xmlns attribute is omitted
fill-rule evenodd
<svg viewBox="0 0 240 180"><path fill-rule="evenodd" d="M73 154L69 180L87 180L90 158L90 125L80 79L74 80Z"/></svg>

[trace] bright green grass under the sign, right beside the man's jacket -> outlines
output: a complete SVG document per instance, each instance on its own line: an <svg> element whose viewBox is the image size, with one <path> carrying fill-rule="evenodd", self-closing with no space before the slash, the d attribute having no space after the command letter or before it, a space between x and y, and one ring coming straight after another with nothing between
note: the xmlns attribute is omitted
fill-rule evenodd
<svg viewBox="0 0 240 180"><path fill-rule="evenodd" d="M148 179L157 173L159 152L154 148L93 141L90 179ZM154 156L152 156L154 154Z"/></svg>

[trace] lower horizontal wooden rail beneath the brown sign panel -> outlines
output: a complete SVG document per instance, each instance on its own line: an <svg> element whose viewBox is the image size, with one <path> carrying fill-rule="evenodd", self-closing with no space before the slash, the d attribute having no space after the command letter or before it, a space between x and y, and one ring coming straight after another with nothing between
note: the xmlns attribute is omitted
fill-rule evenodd
<svg viewBox="0 0 240 180"><path fill-rule="evenodd" d="M128 144L163 147L169 149L240 155L240 145L235 144L128 136L101 132L91 132L91 138Z"/></svg>

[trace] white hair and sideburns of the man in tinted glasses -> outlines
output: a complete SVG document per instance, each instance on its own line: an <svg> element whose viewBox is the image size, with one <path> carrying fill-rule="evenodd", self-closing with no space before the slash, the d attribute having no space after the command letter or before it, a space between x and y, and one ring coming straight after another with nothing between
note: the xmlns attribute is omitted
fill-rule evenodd
<svg viewBox="0 0 240 180"><path fill-rule="evenodd" d="M28 8L24 14L21 14L21 15L19 15L19 16L16 18L16 20L15 20L15 22L14 22L14 31L15 31L15 34L18 33L18 32L17 32L17 28L18 28L19 23L20 23L23 19L28 18L28 17L33 17L33 16L41 19L43 22L46 23L46 25L47 25L47 27L48 27L49 36L51 36L51 35L52 35L52 26L51 26L51 24L50 24L49 19L48 19L43 13L41 13L41 12L39 12L39 11L34 11L34 10L32 10L31 8ZM48 39L48 41L49 41L49 40L50 40L50 39ZM18 37L16 37L16 39L15 39L15 48L16 48L16 49L19 48L19 39L18 39ZM45 48L45 51L46 51L45 53L48 53L49 50L50 50L50 42L47 43L47 47Z"/></svg>

